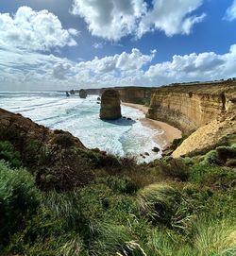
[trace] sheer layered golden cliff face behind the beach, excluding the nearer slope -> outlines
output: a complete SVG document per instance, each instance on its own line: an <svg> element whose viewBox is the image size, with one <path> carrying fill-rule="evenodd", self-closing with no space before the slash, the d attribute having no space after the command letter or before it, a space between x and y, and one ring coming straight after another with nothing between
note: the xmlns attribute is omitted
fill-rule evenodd
<svg viewBox="0 0 236 256"><path fill-rule="evenodd" d="M235 91L229 82L159 88L151 96L147 117L190 133L224 115L234 104Z"/></svg>

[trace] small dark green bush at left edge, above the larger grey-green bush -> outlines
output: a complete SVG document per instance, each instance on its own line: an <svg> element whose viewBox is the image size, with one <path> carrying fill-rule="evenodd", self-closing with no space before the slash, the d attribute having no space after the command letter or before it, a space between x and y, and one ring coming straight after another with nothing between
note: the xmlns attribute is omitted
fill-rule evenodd
<svg viewBox="0 0 236 256"><path fill-rule="evenodd" d="M0 142L0 160L8 162L11 167L21 166L20 153L8 141Z"/></svg>

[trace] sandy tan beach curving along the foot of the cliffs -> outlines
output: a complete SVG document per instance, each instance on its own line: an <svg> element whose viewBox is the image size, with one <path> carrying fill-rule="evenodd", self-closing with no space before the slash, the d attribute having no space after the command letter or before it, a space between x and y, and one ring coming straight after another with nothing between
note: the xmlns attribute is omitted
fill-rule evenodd
<svg viewBox="0 0 236 256"><path fill-rule="evenodd" d="M122 102L122 105L143 111L143 113L145 114L148 111L148 107L145 107L140 104ZM178 128L174 128L166 123L149 118L143 118L141 119L141 122L143 126L152 128L154 130L163 131L161 134L157 134L157 136L155 137L155 141L157 142L158 145L161 146L162 149L171 145L175 139L181 138L182 132Z"/></svg>

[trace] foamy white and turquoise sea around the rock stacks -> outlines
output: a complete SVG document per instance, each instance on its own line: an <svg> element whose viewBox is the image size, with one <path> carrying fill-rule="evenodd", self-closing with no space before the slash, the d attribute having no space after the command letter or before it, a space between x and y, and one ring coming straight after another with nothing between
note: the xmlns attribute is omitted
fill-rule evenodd
<svg viewBox="0 0 236 256"><path fill-rule="evenodd" d="M132 120L118 119L105 122L99 118L98 95L86 99L78 95L66 97L64 93L0 93L0 108L21 113L34 122L52 129L71 132L88 148L99 148L121 157L135 157L138 162L160 158L152 151L160 147L154 137L161 130L144 127L142 111L122 106L122 115ZM149 156L141 156L148 152Z"/></svg>

